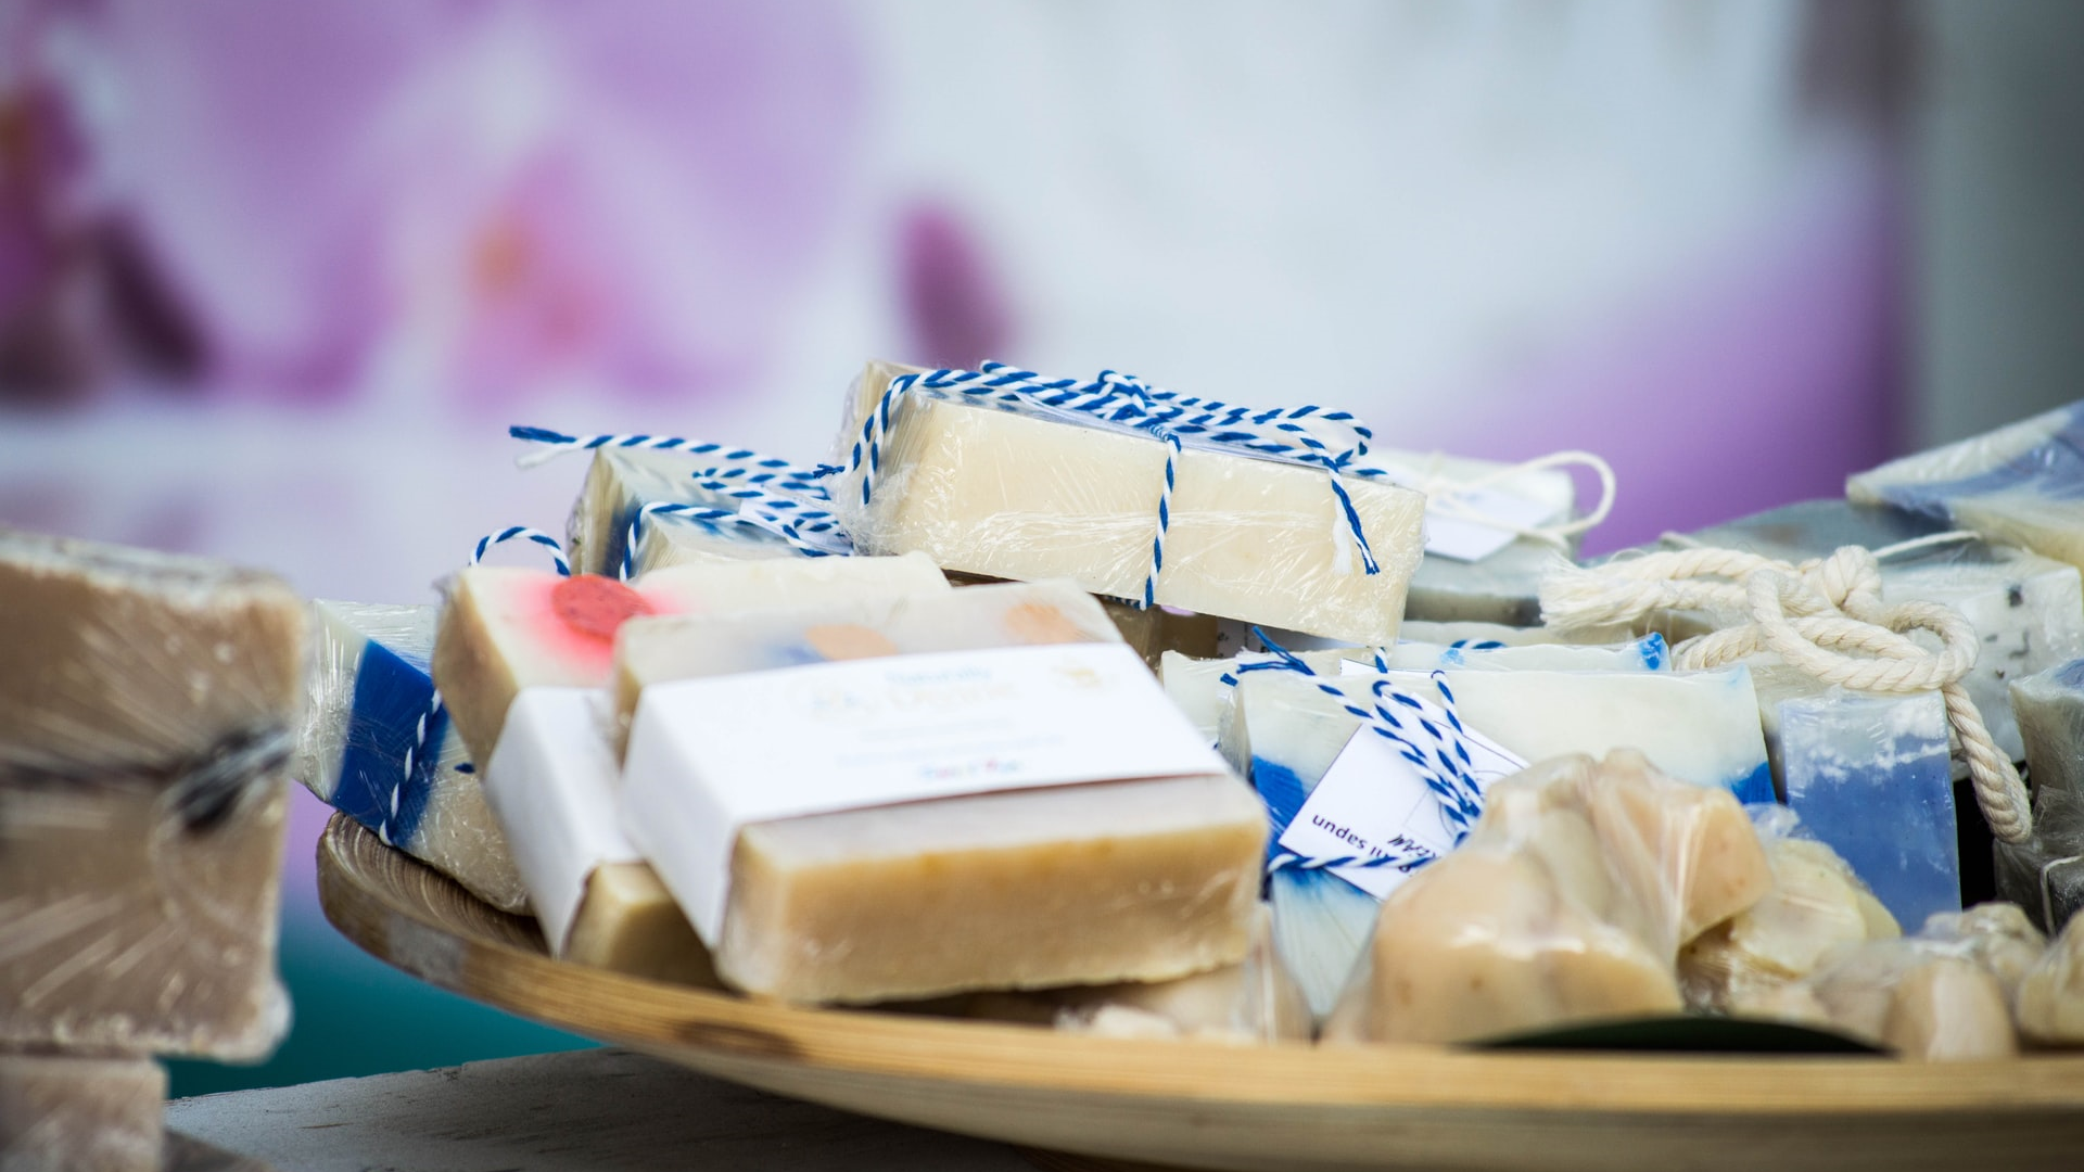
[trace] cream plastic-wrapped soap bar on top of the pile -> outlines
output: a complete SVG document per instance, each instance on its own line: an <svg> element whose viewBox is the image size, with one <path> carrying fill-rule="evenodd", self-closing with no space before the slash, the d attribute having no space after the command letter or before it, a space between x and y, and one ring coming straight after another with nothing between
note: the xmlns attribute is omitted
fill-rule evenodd
<svg viewBox="0 0 2084 1172"><path fill-rule="evenodd" d="M863 386L882 375L871 367ZM879 392L877 392L879 394ZM842 434L842 450L854 442ZM861 471L832 484L865 553L927 553L967 573L1069 578L1142 599L1165 488L1167 444L1142 432L904 396L882 444L873 498ZM1157 603L1353 642L1396 638L1423 551L1425 498L1346 478L1380 573L1365 573L1321 467L1188 446L1175 459Z"/></svg>

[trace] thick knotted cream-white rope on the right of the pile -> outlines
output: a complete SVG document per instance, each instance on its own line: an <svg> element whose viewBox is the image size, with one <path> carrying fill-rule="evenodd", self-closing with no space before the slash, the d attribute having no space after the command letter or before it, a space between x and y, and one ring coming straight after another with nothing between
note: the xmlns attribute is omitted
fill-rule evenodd
<svg viewBox="0 0 2084 1172"><path fill-rule="evenodd" d="M1874 553L1844 546L1830 557L1786 563L1698 546L1592 569L1559 565L1542 580L1542 621L1550 626L1630 624L1659 609L1738 611L1751 619L1671 649L1684 669L1771 651L1815 680L1861 692L1936 688L1990 830L2005 843L2032 834L2034 815L2019 772L1990 740L1976 701L1961 686L1982 649L1976 628L1940 603L1884 605ZM1905 638L1913 630L1938 636L1940 651Z"/></svg>

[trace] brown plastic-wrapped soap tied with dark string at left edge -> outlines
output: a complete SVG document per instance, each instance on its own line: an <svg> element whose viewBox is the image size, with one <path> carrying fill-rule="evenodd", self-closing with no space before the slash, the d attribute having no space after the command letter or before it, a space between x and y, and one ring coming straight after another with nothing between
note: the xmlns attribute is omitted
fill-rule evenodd
<svg viewBox="0 0 2084 1172"><path fill-rule="evenodd" d="M263 1057L304 603L0 532L0 1047Z"/></svg>

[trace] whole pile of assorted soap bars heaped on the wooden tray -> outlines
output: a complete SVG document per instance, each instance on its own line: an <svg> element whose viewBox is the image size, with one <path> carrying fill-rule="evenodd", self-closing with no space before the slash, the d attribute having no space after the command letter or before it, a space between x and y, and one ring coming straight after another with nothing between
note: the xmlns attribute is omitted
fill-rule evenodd
<svg viewBox="0 0 2084 1172"><path fill-rule="evenodd" d="M300 780L569 963L804 1005L1244 1045L2084 1034L2069 413L1582 565L1611 482L1580 507L1580 455L1004 365L869 363L840 415L823 463L517 428L523 463L590 459L569 565L319 603ZM1846 546L1869 571L1826 596ZM1734 592L1544 624L1559 580L1688 551ZM1924 615L1855 655L1974 653L1844 684L1746 634L1740 565L1803 621ZM2017 763L2030 826L1984 826Z"/></svg>

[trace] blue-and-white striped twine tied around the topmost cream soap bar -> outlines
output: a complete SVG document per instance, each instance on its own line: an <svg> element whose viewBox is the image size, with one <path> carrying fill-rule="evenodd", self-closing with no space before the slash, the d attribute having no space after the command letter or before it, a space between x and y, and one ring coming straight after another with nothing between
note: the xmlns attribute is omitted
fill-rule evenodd
<svg viewBox="0 0 2084 1172"><path fill-rule="evenodd" d="M890 380L875 409L861 423L861 436L854 440L846 465L840 469L821 465L815 471L821 475L852 475L861 471L861 505L867 505L875 494L875 478L882 471L890 417L913 390L929 390L1009 409L1069 411L1098 423L1130 428L1163 440L1169 450L1165 453L1165 484L1159 492L1159 532L1150 542L1150 573L1144 576L1142 607L1157 605L1159 571L1165 567L1165 536L1171 530L1175 463L1186 442L1198 448L1323 467L1332 478L1332 494L1338 498L1346 532L1361 553L1363 569L1367 573L1382 571L1367 544L1367 534L1361 530L1361 513L1353 507L1353 496L1346 492L1342 478L1386 473L1382 469L1355 467L1355 461L1367 455L1373 432L1346 411L1325 411L1321 407L1261 411L1152 388L1121 371L1100 371L1090 382L1077 382L1044 380L1034 371L1004 363L984 363L975 371L938 369ZM1334 450L1309 432L1305 419L1338 423L1350 434L1350 442Z"/></svg>

